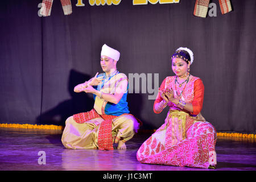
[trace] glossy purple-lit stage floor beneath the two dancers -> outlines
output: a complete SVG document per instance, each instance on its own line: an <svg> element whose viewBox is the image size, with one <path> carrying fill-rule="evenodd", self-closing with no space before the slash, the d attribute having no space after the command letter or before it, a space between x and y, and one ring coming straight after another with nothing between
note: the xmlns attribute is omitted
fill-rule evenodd
<svg viewBox="0 0 256 182"><path fill-rule="evenodd" d="M201 169L141 164L136 153L150 134L137 134L127 142L126 150L71 150L64 148L62 131L0 128L1 171L240 171L256 170L255 139L218 137L217 168ZM117 145L114 145L116 148ZM39 151L46 154L46 164L39 164Z"/></svg>

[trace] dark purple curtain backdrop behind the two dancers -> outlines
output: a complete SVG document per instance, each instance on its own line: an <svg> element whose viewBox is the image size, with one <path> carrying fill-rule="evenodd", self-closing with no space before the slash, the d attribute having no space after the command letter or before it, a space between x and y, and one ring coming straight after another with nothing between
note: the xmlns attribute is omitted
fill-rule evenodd
<svg viewBox="0 0 256 182"><path fill-rule="evenodd" d="M255 1L232 0L233 11L193 16L195 1L177 4L76 7L64 15L53 1L51 16L39 17L36 1L2 1L0 6L0 122L64 125L72 114L92 109L92 96L73 86L101 72L106 43L121 52L118 70L172 76L170 56L189 47L191 73L205 85L201 113L218 131L255 132ZM130 93L131 113L143 129L156 129L167 110L154 114L148 93Z"/></svg>

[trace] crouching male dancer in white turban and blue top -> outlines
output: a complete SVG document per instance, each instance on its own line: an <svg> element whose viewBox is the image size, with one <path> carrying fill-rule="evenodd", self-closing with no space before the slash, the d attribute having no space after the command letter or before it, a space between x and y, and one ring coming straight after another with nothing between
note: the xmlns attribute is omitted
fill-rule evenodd
<svg viewBox="0 0 256 182"><path fill-rule="evenodd" d="M65 122L61 142L66 148L125 149L127 140L139 129L137 119L130 113L126 102L128 79L117 71L120 53L104 44L101 50L101 73L74 91L92 93L94 107L91 111L75 114Z"/></svg>

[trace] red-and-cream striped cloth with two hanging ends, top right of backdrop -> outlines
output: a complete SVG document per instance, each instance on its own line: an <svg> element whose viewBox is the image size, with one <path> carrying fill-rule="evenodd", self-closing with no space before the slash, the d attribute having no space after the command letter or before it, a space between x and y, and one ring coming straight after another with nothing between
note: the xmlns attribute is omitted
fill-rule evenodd
<svg viewBox="0 0 256 182"><path fill-rule="evenodd" d="M207 16L207 11L209 7L210 0L196 0L194 15L205 18ZM229 13L232 11L230 0L218 0L220 3L221 13Z"/></svg>

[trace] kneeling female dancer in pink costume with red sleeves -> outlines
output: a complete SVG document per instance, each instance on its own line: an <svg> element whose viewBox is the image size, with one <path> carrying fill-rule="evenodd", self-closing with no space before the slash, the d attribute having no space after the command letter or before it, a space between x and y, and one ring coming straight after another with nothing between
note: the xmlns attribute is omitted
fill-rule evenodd
<svg viewBox="0 0 256 182"><path fill-rule="evenodd" d="M169 107L167 117L139 148L137 159L147 164L215 168L216 130L200 113L204 85L189 73L193 52L181 47L171 60L176 76L164 79L154 103L155 113Z"/></svg>

